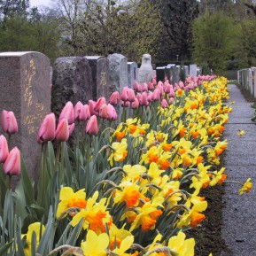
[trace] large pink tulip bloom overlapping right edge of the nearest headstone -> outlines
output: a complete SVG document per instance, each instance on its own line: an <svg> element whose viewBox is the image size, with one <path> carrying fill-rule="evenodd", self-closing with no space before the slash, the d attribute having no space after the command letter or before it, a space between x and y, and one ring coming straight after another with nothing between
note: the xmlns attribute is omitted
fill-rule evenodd
<svg viewBox="0 0 256 256"><path fill-rule="evenodd" d="M52 141L55 138L56 119L53 112L46 115L37 134L37 142L43 144L44 142Z"/></svg>

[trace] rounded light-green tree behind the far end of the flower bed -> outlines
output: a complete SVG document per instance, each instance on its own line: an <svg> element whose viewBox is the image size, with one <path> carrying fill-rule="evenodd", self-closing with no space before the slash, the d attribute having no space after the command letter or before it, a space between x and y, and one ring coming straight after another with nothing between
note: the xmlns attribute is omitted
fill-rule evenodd
<svg viewBox="0 0 256 256"><path fill-rule="evenodd" d="M206 12L193 23L193 59L221 74L232 56L236 38L234 19L222 12Z"/></svg>

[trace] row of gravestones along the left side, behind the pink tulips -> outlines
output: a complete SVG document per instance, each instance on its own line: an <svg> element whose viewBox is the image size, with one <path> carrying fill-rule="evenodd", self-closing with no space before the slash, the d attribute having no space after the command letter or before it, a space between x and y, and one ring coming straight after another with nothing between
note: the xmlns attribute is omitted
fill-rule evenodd
<svg viewBox="0 0 256 256"><path fill-rule="evenodd" d="M174 81L179 80L180 68L175 66ZM171 78L168 72L172 69L172 65L165 67L165 77ZM197 75L197 66L190 66L190 73L186 67L185 72ZM14 112L19 125L11 148L19 147L28 174L38 180L41 147L36 136L46 114L55 112L58 116L67 101L86 104L92 98L108 98L115 90L132 87L135 80L149 82L154 74L148 54L144 55L140 69L135 62L127 62L127 58L114 53L108 58L58 58L50 72L50 59L40 52L0 53L0 111Z"/></svg>

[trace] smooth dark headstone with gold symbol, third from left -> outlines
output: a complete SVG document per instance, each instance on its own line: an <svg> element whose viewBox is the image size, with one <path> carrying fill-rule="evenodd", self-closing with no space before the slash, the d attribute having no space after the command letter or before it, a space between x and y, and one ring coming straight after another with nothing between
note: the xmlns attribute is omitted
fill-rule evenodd
<svg viewBox="0 0 256 256"><path fill-rule="evenodd" d="M109 98L109 60L103 56L86 56L92 74L92 98Z"/></svg>

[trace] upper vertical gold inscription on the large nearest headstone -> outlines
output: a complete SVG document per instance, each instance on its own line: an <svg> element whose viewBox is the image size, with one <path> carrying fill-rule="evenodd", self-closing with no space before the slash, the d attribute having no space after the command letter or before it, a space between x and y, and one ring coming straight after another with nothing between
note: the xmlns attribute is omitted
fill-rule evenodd
<svg viewBox="0 0 256 256"><path fill-rule="evenodd" d="M35 75L35 60L31 59L28 68L25 70L26 82L25 82L25 92L24 100L27 107L32 105L32 78Z"/></svg>

